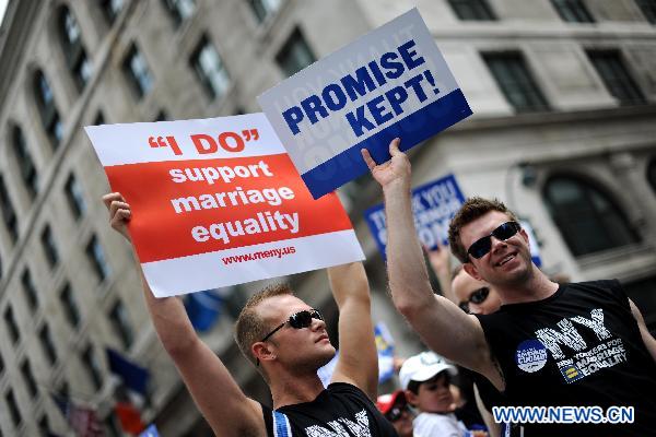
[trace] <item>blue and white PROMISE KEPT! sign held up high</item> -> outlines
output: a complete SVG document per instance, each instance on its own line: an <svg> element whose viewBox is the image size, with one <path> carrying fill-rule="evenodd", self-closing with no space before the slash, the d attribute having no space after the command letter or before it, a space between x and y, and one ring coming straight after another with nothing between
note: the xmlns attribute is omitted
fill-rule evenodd
<svg viewBox="0 0 656 437"><path fill-rule="evenodd" d="M315 199L471 115L417 9L258 97Z"/></svg>

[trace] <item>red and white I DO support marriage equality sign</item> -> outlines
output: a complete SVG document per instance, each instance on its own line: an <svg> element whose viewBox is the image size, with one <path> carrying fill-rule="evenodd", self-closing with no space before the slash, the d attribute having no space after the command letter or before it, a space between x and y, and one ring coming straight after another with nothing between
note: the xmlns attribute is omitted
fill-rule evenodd
<svg viewBox="0 0 656 437"><path fill-rule="evenodd" d="M339 199L312 198L262 114L85 130L157 297L364 259Z"/></svg>

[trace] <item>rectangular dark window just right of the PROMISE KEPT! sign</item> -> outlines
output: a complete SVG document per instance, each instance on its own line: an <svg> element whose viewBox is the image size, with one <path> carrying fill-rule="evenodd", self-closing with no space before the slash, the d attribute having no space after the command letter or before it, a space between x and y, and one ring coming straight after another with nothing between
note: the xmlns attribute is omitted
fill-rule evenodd
<svg viewBox="0 0 656 437"><path fill-rule="evenodd" d="M522 55L487 54L483 59L506 99L517 113L549 109Z"/></svg>

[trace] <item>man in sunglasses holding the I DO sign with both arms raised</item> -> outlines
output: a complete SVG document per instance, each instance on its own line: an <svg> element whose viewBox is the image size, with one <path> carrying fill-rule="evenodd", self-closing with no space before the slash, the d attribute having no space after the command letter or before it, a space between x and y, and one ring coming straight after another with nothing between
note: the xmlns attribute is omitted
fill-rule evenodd
<svg viewBox="0 0 656 437"><path fill-rule="evenodd" d="M103 201L112 227L130 240L130 205L120 193L106 194ZM235 339L269 385L271 410L244 394L221 359L198 338L181 302L155 298L142 276L157 335L218 436L397 437L372 402L378 357L364 267L361 262L333 267L328 277L340 314L340 356L328 389L317 369L336 351L318 310L289 287L271 286L253 296L238 317Z"/></svg>

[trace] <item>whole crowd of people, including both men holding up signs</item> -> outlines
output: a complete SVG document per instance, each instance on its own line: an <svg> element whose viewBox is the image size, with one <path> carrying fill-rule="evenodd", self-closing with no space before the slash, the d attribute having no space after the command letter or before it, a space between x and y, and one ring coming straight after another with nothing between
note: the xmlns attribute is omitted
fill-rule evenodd
<svg viewBox="0 0 656 437"><path fill-rule="evenodd" d="M360 262L328 269L339 308L339 358L325 388L317 369L336 354L320 312L284 285L254 295L235 340L271 390L244 394L196 334L176 297L144 297L160 340L219 436L649 436L656 435L656 340L617 281L559 284L531 261L528 236L495 200L468 199L445 248L429 260L431 288L411 212L410 162L363 158L380 185L387 217L391 299L430 351L409 357L400 389L377 397L370 288ZM130 205L104 197L110 224L130 240ZM457 387L456 387L457 386ZM640 388L637 390L636 388ZM497 423L495 406L632 406L632 423ZM499 421L501 422L501 421ZM515 422L515 421L509 421ZM522 422L522 421L519 421Z"/></svg>

